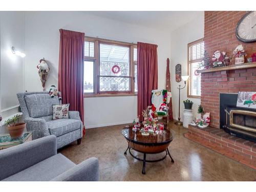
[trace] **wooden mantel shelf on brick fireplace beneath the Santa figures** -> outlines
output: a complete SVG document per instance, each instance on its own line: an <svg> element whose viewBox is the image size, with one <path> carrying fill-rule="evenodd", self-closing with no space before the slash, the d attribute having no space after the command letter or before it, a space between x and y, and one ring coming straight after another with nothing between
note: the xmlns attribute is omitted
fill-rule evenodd
<svg viewBox="0 0 256 192"><path fill-rule="evenodd" d="M249 68L256 68L256 62L243 63L239 65L231 65L231 66L224 66L224 67L216 67L216 68L210 68L210 69L201 69L201 70L197 70L197 72L209 73L209 72L216 72L216 71L229 71L229 70L249 69Z"/></svg>

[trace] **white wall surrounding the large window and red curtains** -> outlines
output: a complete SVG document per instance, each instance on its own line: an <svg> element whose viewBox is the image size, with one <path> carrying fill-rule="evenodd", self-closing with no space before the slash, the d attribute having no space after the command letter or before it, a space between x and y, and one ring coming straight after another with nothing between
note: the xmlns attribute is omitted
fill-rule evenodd
<svg viewBox="0 0 256 192"><path fill-rule="evenodd" d="M57 86L59 29L86 33L86 36L125 42L148 42L158 45L158 87L165 88L166 59L170 56L167 31L118 22L86 12L25 12L25 87L41 91L36 65L48 60L50 73L46 87ZM75 94L75 93L74 93ZM137 115L137 97L99 97L84 99L86 127L132 122Z"/></svg>

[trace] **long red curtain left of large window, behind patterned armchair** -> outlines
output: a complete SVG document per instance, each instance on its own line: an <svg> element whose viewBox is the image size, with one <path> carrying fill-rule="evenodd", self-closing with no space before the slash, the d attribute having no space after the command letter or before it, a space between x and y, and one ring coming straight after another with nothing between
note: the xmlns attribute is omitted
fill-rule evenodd
<svg viewBox="0 0 256 192"><path fill-rule="evenodd" d="M83 121L84 33L60 29L58 89Z"/></svg>

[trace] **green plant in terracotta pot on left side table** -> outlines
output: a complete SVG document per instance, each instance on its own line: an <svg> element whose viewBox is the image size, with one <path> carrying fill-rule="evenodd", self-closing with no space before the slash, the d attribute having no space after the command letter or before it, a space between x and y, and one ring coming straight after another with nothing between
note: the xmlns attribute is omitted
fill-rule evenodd
<svg viewBox="0 0 256 192"><path fill-rule="evenodd" d="M18 123L20 117L22 117L22 115L15 115L5 121L5 124L7 124L7 129L12 139L17 139L23 135L26 123Z"/></svg>

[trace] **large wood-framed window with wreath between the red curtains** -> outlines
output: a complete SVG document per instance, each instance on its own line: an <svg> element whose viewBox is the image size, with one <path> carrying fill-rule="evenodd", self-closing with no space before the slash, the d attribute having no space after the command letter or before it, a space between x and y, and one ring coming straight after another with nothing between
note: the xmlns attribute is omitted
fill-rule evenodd
<svg viewBox="0 0 256 192"><path fill-rule="evenodd" d="M131 95L135 92L137 92L136 45L86 37L84 96Z"/></svg>

